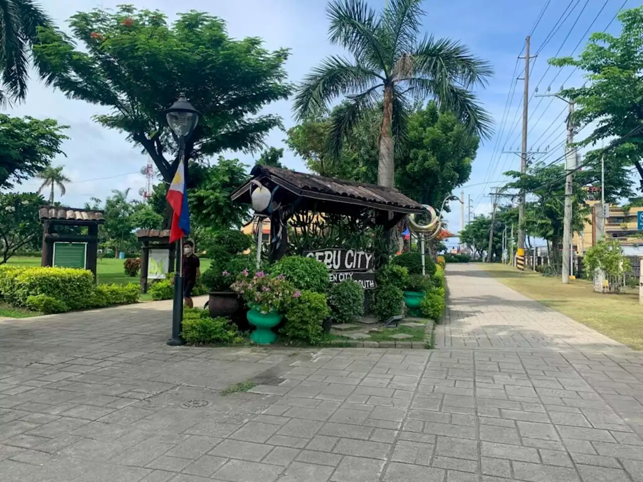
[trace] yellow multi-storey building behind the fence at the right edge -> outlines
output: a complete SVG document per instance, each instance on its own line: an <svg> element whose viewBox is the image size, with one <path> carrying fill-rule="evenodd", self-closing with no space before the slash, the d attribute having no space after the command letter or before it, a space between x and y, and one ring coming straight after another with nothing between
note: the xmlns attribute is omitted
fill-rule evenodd
<svg viewBox="0 0 643 482"><path fill-rule="evenodd" d="M585 221L583 233L580 233L580 235L579 233L574 233L572 244L577 254L583 254L592 247L601 234L601 202L586 202L589 206L592 206L592 213ZM623 247L643 245L642 231L637 229L637 217L640 211L643 211L643 207L630 208L628 211L624 211L620 206L610 204L610 215L605 221L605 238L616 238ZM626 251L628 250L626 249Z"/></svg>

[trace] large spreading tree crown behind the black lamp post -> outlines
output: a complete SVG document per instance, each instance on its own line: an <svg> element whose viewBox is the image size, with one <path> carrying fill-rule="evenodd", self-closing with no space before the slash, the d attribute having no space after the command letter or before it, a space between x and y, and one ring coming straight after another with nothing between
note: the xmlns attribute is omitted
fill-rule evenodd
<svg viewBox="0 0 643 482"><path fill-rule="evenodd" d="M170 25L158 10L120 5L79 12L69 25L73 37L53 28L39 33L35 57L50 71L48 84L111 109L95 120L145 148L165 181L176 170L177 145L159 113L181 92L202 113L186 159L257 150L282 126L279 116L255 114L293 89L287 49L268 51L256 37L231 39L224 21L194 10Z"/></svg>

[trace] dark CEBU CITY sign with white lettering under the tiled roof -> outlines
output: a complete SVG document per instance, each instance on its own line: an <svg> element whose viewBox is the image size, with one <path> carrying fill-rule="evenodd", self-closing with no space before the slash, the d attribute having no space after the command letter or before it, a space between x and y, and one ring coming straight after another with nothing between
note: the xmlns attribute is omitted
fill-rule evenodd
<svg viewBox="0 0 643 482"><path fill-rule="evenodd" d="M331 283L353 280L365 290L377 288L375 273L372 272L375 259L373 253L358 249L330 248L303 251L303 256L324 263Z"/></svg>

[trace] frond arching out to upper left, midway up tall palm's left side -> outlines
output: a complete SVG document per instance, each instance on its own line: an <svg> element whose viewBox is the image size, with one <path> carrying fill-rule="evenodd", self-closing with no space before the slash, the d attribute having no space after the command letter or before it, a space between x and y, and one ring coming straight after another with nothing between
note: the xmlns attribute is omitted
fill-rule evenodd
<svg viewBox="0 0 643 482"><path fill-rule="evenodd" d="M327 110L340 94L364 91L379 80L377 73L341 57L329 57L305 76L294 96L293 111L298 120Z"/></svg>

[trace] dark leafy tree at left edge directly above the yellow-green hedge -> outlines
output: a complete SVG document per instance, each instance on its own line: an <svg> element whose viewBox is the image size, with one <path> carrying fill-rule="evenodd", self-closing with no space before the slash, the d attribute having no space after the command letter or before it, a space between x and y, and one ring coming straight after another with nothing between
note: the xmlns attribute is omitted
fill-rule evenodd
<svg viewBox="0 0 643 482"><path fill-rule="evenodd" d="M44 204L42 196L34 193L0 193L0 264L39 238L42 224L38 208L41 204Z"/></svg>

